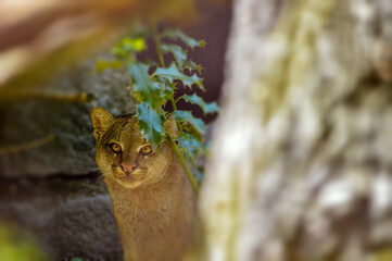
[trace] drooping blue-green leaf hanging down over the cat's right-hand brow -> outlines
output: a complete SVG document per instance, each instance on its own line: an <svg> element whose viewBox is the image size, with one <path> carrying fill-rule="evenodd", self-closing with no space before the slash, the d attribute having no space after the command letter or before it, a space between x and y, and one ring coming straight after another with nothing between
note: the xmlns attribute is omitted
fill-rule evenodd
<svg viewBox="0 0 392 261"><path fill-rule="evenodd" d="M138 105L140 133L156 149L165 139L162 117L146 102Z"/></svg>

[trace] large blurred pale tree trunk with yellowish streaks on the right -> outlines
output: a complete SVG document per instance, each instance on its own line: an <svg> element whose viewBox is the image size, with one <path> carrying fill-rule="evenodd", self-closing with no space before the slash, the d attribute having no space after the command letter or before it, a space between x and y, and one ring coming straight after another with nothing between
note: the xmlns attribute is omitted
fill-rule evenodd
<svg viewBox="0 0 392 261"><path fill-rule="evenodd" d="M392 1L235 0L207 260L392 260Z"/></svg>

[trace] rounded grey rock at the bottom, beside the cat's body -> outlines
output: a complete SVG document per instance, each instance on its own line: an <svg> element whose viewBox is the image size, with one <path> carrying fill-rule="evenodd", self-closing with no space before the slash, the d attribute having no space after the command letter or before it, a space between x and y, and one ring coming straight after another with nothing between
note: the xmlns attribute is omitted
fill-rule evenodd
<svg viewBox="0 0 392 261"><path fill-rule="evenodd" d="M56 260L121 260L123 256L109 196L74 200L48 222L47 246Z"/></svg>

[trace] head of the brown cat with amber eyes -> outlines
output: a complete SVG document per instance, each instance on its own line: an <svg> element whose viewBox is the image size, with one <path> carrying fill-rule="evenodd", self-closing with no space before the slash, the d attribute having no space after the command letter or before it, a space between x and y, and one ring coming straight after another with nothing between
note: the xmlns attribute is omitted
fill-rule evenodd
<svg viewBox="0 0 392 261"><path fill-rule="evenodd" d="M174 160L167 142L159 150L142 137L136 116L113 117L102 108L91 112L96 161L105 178L127 188L161 181Z"/></svg>

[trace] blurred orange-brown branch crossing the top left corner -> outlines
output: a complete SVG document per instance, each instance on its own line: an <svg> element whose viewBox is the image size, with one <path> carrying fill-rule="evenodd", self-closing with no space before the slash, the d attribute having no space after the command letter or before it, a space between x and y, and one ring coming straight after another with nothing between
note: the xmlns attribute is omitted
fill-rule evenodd
<svg viewBox="0 0 392 261"><path fill-rule="evenodd" d="M192 11L192 0L0 2L0 87L47 77L58 65L113 44L130 22L189 22Z"/></svg>

